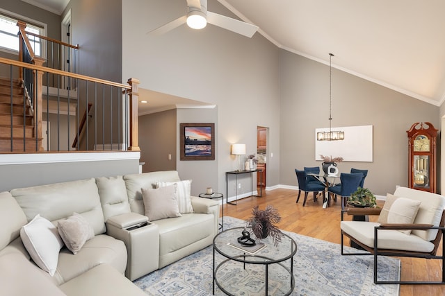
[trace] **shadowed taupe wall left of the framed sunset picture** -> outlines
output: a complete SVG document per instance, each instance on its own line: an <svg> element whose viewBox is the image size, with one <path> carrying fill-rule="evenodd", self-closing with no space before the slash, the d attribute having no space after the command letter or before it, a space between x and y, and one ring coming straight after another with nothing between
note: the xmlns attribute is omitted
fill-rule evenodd
<svg viewBox="0 0 445 296"><path fill-rule="evenodd" d="M139 116L140 162L143 172L176 170L177 127L175 109ZM168 155L172 159L168 159Z"/></svg>

